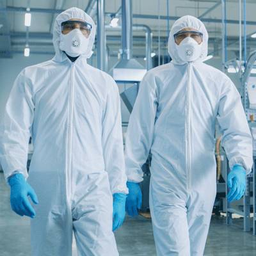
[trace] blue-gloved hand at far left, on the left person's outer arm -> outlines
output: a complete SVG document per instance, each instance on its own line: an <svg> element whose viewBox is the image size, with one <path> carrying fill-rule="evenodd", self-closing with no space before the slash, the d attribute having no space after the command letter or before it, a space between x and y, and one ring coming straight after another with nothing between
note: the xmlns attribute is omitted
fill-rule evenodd
<svg viewBox="0 0 256 256"><path fill-rule="evenodd" d="M32 199L34 204L38 204L38 199L35 191L26 182L24 176L21 173L16 173L8 180L11 187L11 206L13 211L15 211L20 216L29 216L30 218L35 218L36 213L31 206L28 196Z"/></svg>

